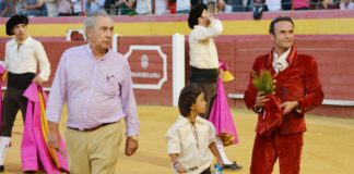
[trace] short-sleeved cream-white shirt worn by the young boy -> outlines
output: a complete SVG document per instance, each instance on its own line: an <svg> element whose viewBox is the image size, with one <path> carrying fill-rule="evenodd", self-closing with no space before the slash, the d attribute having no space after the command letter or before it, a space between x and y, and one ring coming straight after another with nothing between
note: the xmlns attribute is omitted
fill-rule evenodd
<svg viewBox="0 0 354 174"><path fill-rule="evenodd" d="M196 119L198 129L199 148L192 132L191 123L187 117L178 116L174 125L167 130L167 153L177 153L178 162L186 170L197 166L197 170L187 171L188 174L199 174L210 167L213 162L213 153L209 145L215 141L215 128L213 124L200 116ZM175 171L176 172L176 171Z"/></svg>

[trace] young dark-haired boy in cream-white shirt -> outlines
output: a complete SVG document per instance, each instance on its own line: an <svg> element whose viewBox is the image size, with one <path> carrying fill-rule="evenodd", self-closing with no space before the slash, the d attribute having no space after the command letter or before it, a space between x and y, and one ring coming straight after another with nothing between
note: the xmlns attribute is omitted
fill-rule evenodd
<svg viewBox="0 0 354 174"><path fill-rule="evenodd" d="M187 85L178 100L180 116L167 132L167 153L175 173L210 174L214 153L216 162L222 164L215 146L215 128L199 114L205 112L202 89L197 85Z"/></svg>

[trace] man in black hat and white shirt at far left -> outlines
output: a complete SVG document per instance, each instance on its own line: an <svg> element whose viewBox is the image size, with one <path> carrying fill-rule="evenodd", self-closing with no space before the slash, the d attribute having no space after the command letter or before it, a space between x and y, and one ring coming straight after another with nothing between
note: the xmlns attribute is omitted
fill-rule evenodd
<svg viewBox="0 0 354 174"><path fill-rule="evenodd" d="M15 116L21 110L23 121L27 99L22 96L34 82L38 85L48 80L50 64L42 44L27 35L28 18L14 15L7 22L7 35L12 36L5 46L4 65L8 71L8 89L3 98L3 112L0 126L0 172L4 170L3 160ZM40 73L36 75L37 64Z"/></svg>

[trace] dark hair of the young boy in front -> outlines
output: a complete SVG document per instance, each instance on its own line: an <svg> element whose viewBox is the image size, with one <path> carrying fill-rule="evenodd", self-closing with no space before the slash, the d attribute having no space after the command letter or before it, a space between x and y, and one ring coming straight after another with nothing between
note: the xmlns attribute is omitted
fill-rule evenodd
<svg viewBox="0 0 354 174"><path fill-rule="evenodd" d="M190 84L184 87L178 99L179 113L187 117L190 113L190 107L196 103L196 100L203 90L196 84Z"/></svg>

